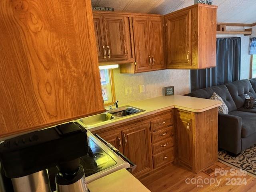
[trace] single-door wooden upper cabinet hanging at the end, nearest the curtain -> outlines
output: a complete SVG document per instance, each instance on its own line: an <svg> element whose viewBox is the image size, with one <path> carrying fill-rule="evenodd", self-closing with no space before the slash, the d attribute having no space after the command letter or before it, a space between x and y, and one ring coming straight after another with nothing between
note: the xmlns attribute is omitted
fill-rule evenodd
<svg viewBox="0 0 256 192"><path fill-rule="evenodd" d="M196 4L164 16L168 69L216 66L216 11L217 6Z"/></svg>

